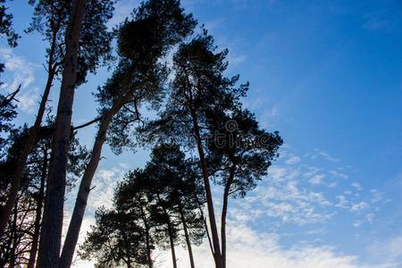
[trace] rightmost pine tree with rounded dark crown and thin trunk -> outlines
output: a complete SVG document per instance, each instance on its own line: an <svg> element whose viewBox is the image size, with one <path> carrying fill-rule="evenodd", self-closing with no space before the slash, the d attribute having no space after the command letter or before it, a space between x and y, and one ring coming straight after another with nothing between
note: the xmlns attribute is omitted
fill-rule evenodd
<svg viewBox="0 0 402 268"><path fill-rule="evenodd" d="M226 267L226 217L229 197L245 197L278 157L282 139L277 131L260 129L253 113L240 108L231 114L211 111L207 119L208 166L223 187L221 214L222 264Z"/></svg>

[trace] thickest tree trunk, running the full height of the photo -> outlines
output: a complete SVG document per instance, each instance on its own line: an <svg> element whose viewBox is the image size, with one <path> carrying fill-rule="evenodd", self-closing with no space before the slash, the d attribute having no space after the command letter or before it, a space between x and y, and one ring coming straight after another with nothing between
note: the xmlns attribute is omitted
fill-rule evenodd
<svg viewBox="0 0 402 268"><path fill-rule="evenodd" d="M68 149L71 137L71 113L78 70L79 38L85 14L85 0L72 2L71 17L65 34L63 80L60 90L52 159L46 186L45 210L40 234L40 268L59 267L63 230L63 206Z"/></svg>

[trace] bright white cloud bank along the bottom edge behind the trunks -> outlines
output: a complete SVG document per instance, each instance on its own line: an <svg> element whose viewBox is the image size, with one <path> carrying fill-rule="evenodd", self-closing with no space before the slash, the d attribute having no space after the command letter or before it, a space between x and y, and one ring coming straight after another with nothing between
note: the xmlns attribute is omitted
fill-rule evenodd
<svg viewBox="0 0 402 268"><path fill-rule="evenodd" d="M356 256L339 255L334 247L314 247L295 245L288 249L280 246L279 237L272 233L257 233L237 222L229 222L228 227L228 264L230 268L244 267L279 267L279 268L357 268L366 267L357 262ZM189 267L188 252L180 245L176 246L179 267ZM214 267L208 243L193 247L198 268ZM159 268L171 268L170 251L157 254ZM93 267L88 262L77 262L73 267Z"/></svg>

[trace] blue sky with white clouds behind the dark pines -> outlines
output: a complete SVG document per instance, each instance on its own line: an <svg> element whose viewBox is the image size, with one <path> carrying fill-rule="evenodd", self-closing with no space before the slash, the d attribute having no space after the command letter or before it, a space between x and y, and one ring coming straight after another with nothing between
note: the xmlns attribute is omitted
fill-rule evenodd
<svg viewBox="0 0 402 268"><path fill-rule="evenodd" d="M230 203L230 267L401 267L402 2L182 3L230 49L228 75L250 81L244 104L285 140L269 176ZM121 1L111 24L137 4ZM11 8L22 32L31 10L21 1ZM45 85L44 43L23 34L17 48L4 40L1 47L2 80L12 88L23 83L18 120L31 122ZM100 70L78 89L76 124L95 116L91 92L108 75ZM57 95L55 83L53 103ZM94 130L80 133L88 147ZM110 204L121 175L147 161L141 150L116 156L106 148L104 155L87 227L94 209ZM67 217L70 211L71 201ZM200 267L211 267L206 249L197 248Z"/></svg>

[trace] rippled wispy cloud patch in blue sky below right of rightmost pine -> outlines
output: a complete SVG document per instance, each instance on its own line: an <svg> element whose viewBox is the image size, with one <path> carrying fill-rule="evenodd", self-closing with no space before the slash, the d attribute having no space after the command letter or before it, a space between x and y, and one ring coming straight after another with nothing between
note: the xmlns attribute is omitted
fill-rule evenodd
<svg viewBox="0 0 402 268"><path fill-rule="evenodd" d="M331 165L338 165L339 159L333 161L333 157L322 150L314 150L316 156L311 155L301 157L285 149L281 160L270 168L268 177L239 202L239 207L248 214L241 218L264 222L264 217L270 217L282 223L306 225L328 222L342 213L355 215L362 224L373 222L373 215L366 217L373 213L370 199L380 195L375 190L364 193L364 196L373 196L364 200L359 194L363 191L360 183L344 183L348 174L334 172L341 168L319 168L315 163L318 156L330 159Z"/></svg>

